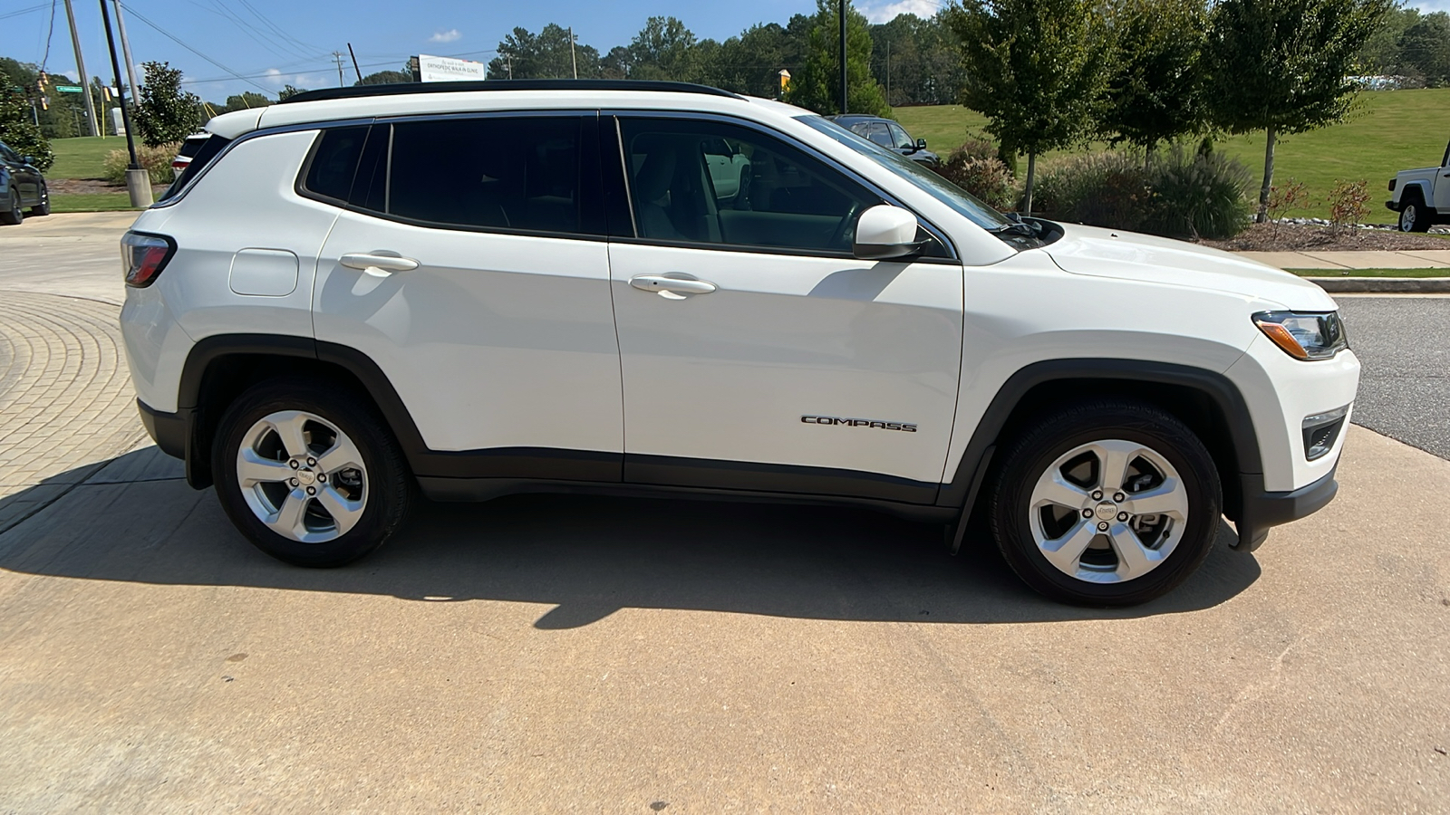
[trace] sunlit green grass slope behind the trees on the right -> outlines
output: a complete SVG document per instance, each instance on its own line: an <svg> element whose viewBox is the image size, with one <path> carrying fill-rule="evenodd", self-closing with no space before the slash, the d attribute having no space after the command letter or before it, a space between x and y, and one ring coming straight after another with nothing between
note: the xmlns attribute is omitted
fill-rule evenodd
<svg viewBox="0 0 1450 815"><path fill-rule="evenodd" d="M896 117L912 136L925 138L945 157L967 133L982 133L986 119L957 104L898 107ZM1275 183L1304 181L1315 206L1288 215L1328 218L1325 197L1338 180L1369 183L1372 223L1389 223L1395 213L1385 209L1385 189L1395 173L1434 167L1450 136L1450 88L1366 91L1343 125L1283 136L1275 151ZM1103 149L1095 145L1093 149ZM1232 136L1219 149L1238 158L1253 173L1254 187L1263 178L1264 135ZM1053 154L1048 154L1048 160ZM1019 165L1025 171L1025 161Z"/></svg>

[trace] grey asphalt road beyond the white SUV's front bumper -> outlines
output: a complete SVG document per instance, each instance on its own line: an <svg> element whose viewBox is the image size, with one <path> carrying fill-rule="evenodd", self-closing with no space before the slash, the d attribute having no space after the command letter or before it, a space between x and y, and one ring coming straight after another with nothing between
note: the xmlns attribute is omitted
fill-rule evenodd
<svg viewBox="0 0 1450 815"><path fill-rule="evenodd" d="M1354 423L1450 460L1450 297L1337 297L1364 365Z"/></svg>

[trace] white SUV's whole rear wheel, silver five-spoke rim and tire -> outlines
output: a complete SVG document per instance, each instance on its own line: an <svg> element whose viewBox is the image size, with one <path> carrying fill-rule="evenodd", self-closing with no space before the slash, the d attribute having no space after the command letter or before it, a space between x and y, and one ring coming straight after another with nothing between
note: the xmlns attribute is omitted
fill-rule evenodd
<svg viewBox="0 0 1450 815"><path fill-rule="evenodd" d="M383 419L345 389L262 383L222 416L212 452L222 508L264 553L332 567L383 545L412 474Z"/></svg>

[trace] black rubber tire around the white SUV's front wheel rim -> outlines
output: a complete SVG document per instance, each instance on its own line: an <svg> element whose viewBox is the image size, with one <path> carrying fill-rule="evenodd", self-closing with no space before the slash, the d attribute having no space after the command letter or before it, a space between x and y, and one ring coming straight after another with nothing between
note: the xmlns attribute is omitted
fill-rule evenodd
<svg viewBox="0 0 1450 815"><path fill-rule="evenodd" d="M1074 448L1105 439L1130 441L1161 455L1177 470L1188 506L1176 548L1141 577L1116 583L1095 583L1058 570L1038 550L1031 526L1031 496L1038 479ZM1028 431L1006 444L998 461L1002 466L990 493L992 537L1012 571L1054 600L1089 606L1144 603L1188 579L1212 547L1221 513L1218 470L1193 431L1157 408L1093 400L1054 410L1037 418ZM1106 539L1095 538L1099 553L1101 544Z"/></svg>

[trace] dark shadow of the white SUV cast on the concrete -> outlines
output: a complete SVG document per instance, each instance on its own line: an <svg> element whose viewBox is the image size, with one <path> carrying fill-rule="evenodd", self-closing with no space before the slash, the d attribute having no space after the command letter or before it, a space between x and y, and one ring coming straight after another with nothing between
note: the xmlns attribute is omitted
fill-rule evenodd
<svg viewBox="0 0 1450 815"><path fill-rule="evenodd" d="M252 548L213 492L191 490L180 463L155 448L113 460L36 509L28 493L46 489L54 484L0 499L0 519L13 524L0 532L0 568L555 606L535 622L541 629L589 625L624 608L945 624L1138 618L1217 606L1260 573L1251 555L1230 551L1232 531L1221 525L1204 567L1166 597L1086 609L1032 593L980 534L953 557L940 526L866 509L561 495L422 502L383 550L309 570ZM17 524L16 510L26 515Z"/></svg>

